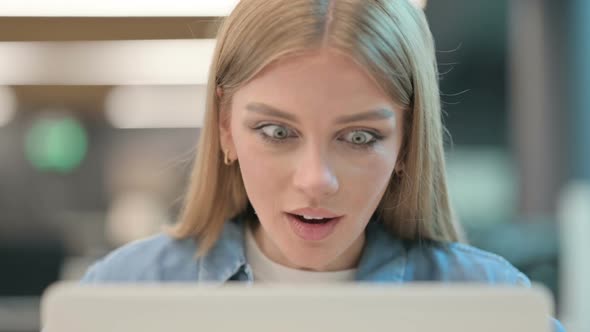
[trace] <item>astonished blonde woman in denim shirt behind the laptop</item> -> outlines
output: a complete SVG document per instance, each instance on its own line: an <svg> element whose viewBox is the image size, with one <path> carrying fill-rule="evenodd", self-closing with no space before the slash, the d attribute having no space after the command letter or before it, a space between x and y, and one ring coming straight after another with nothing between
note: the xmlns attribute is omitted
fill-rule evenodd
<svg viewBox="0 0 590 332"><path fill-rule="evenodd" d="M529 284L461 239L424 13L242 0L218 36L179 223L83 281Z"/></svg>

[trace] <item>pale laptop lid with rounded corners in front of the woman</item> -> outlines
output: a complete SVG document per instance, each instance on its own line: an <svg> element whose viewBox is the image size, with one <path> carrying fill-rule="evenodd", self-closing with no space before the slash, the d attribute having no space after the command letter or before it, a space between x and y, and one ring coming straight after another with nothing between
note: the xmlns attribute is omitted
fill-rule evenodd
<svg viewBox="0 0 590 332"><path fill-rule="evenodd" d="M207 286L60 283L44 332L550 332L552 298L477 284Z"/></svg>

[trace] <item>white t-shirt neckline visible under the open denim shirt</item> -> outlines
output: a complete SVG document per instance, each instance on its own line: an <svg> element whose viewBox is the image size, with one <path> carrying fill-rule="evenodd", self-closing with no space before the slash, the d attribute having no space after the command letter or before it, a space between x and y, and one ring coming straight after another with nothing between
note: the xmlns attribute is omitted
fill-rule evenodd
<svg viewBox="0 0 590 332"><path fill-rule="evenodd" d="M256 283L333 283L355 279L356 269L316 272L293 269L280 265L260 250L250 227L246 227L246 260L254 273Z"/></svg>

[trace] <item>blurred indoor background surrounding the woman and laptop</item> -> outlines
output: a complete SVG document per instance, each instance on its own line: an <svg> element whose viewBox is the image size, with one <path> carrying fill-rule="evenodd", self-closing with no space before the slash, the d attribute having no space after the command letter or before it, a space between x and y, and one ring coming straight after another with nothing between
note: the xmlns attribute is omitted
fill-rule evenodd
<svg viewBox="0 0 590 332"><path fill-rule="evenodd" d="M175 219L236 0L64 3L0 1L0 332L38 330L49 284ZM471 244L590 331L590 1L430 1L426 14Z"/></svg>

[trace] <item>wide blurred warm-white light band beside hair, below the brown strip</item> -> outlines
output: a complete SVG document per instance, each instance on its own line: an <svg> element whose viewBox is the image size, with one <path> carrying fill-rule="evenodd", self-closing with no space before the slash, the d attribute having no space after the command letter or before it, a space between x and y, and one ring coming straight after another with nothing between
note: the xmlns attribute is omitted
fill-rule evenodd
<svg viewBox="0 0 590 332"><path fill-rule="evenodd" d="M214 39L0 42L0 84L205 84L214 49Z"/></svg>

